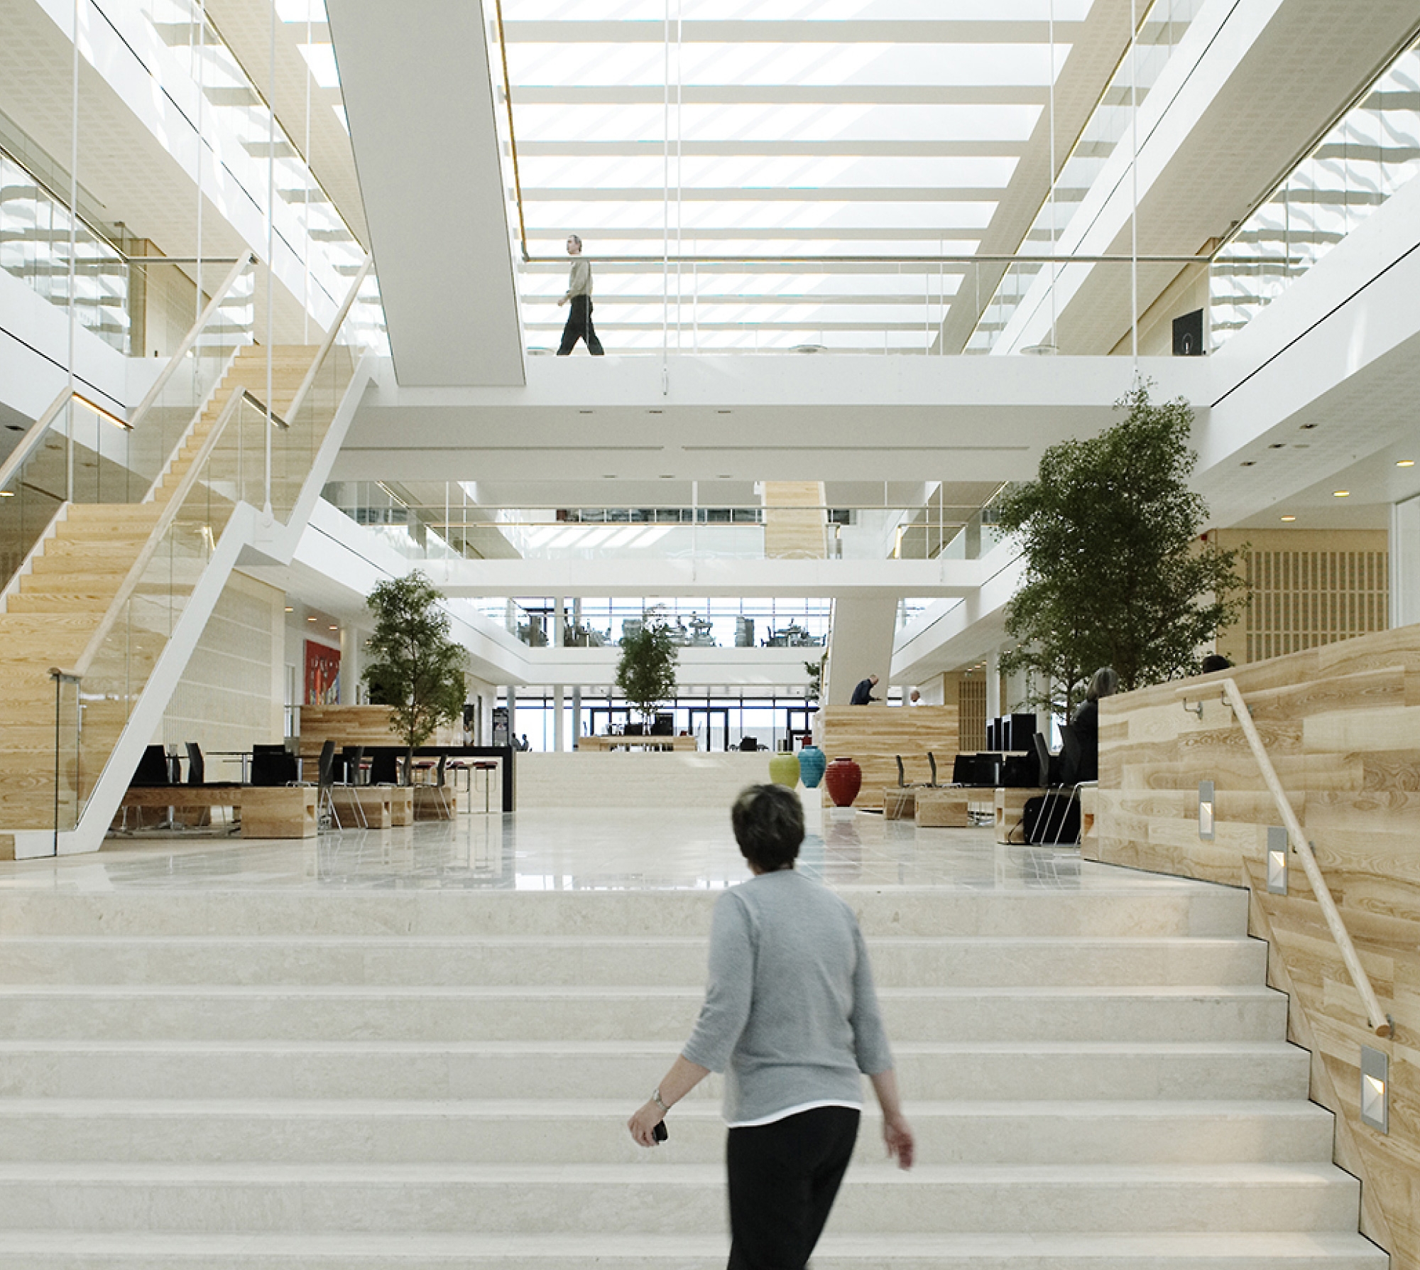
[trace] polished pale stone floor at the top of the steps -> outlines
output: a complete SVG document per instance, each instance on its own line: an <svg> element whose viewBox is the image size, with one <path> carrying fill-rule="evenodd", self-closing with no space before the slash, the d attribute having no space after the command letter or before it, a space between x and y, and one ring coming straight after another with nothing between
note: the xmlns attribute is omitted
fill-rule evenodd
<svg viewBox="0 0 1420 1270"><path fill-rule="evenodd" d="M109 838L98 854L0 864L0 891L390 888L714 889L748 876L728 811L528 810L409 828L260 841L209 831ZM1139 891L1186 882L1082 861L1069 847L1000 845L990 828L828 811L799 867L834 886Z"/></svg>

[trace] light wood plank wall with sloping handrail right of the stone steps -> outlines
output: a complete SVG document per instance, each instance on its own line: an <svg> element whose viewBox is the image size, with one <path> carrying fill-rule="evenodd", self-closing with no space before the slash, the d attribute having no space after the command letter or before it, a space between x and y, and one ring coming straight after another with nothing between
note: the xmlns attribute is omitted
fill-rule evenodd
<svg viewBox="0 0 1420 1270"><path fill-rule="evenodd" d="M1179 683L1100 702L1099 791L1086 857L1252 892L1289 1036L1312 1051L1312 1098L1338 1114L1336 1161L1362 1178L1362 1230L1396 1270L1420 1270L1420 626L1360 635L1228 672L1247 698L1356 943L1394 1040L1360 996L1299 864L1267 892L1281 818L1228 706L1184 712ZM1207 676L1217 678L1217 676ZM1198 781L1217 834L1198 840ZM1360 1122L1360 1046L1390 1058L1390 1135Z"/></svg>

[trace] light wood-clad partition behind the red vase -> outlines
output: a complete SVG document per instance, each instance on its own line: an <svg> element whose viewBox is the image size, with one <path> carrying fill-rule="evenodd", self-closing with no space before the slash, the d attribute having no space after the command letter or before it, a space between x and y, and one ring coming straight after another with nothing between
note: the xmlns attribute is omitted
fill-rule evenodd
<svg viewBox="0 0 1420 1270"><path fill-rule="evenodd" d="M930 750L937 760L937 778L951 780L957 754L956 706L824 706L815 727L824 756L852 759L863 769L863 786L853 805L880 807L886 786L897 784L896 756L907 784L932 780ZM831 805L824 787L824 805Z"/></svg>

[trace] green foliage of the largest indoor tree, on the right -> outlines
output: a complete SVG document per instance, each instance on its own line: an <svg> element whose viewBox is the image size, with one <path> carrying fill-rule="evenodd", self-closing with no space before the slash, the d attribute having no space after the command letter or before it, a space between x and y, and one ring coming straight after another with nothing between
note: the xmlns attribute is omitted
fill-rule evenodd
<svg viewBox="0 0 1420 1270"><path fill-rule="evenodd" d="M1183 398L1153 405L1147 384L1115 408L1123 420L1051 446L1037 479L997 504L1025 560L1003 669L1030 673L1028 703L1066 715L1099 666L1119 672L1120 690L1197 673L1198 646L1245 602L1241 550L1200 541L1193 409Z"/></svg>

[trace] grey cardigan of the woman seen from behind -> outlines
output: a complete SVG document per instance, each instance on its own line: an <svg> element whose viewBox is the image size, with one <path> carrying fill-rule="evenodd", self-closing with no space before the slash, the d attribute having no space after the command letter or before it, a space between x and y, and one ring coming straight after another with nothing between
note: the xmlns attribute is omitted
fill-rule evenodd
<svg viewBox="0 0 1420 1270"><path fill-rule="evenodd" d="M792 869L720 896L710 983L682 1054L726 1073L724 1118L765 1124L815 1104L861 1107L859 1073L892 1068L853 911Z"/></svg>

